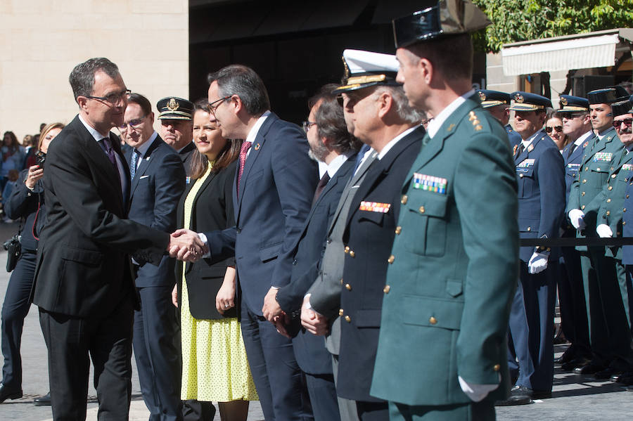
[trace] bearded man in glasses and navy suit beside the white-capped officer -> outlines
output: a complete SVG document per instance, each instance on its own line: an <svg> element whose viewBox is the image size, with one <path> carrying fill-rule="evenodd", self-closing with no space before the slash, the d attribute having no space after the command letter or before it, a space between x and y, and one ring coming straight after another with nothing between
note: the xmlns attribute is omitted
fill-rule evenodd
<svg viewBox="0 0 633 421"><path fill-rule="evenodd" d="M271 322L283 320L285 313L293 317L293 323L298 323L303 297L321 269L331 217L354 171L360 141L347 131L343 107L332 93L337 86L326 84L309 100L310 113L303 123L310 145L309 154L314 160L327 164L327 169L314 193L303 231L293 247L290 283L280 288L276 296L267 296L264 300L262 311ZM293 339L293 349L306 376L314 420L340 420L331 356L323 338L301 330Z"/></svg>

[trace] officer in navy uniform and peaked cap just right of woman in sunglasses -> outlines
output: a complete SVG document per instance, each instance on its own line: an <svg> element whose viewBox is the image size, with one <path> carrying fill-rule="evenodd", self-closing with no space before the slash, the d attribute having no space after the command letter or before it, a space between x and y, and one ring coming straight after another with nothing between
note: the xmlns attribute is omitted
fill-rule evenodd
<svg viewBox="0 0 633 421"><path fill-rule="evenodd" d="M561 95L561 109L558 114L563 120L563 134L570 138L563 148L565 161L565 206L569 202L571 185L578 175L584 148L594 136L589 117L589 101L579 96ZM561 237L575 238L574 228L566 218L561 225ZM580 252L575 247L561 247L565 273L558 277L558 303L561 306L561 327L565 338L570 342L563 355L555 362L561 369L571 371L589 362L592 358L589 345L589 325L587 324L587 306L584 304L582 273L580 272Z"/></svg>

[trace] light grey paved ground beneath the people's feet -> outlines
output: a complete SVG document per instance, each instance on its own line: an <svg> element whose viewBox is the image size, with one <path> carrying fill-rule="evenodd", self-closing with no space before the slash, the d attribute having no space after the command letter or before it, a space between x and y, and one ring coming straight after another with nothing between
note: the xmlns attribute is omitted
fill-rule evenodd
<svg viewBox="0 0 633 421"><path fill-rule="evenodd" d="M0 242L11 237L18 230L17 224L0 224ZM0 252L0 302L4 302L4 292L9 274L4 271L6 252ZM565 346L557 346L556 354L560 354ZM32 306L23 335L22 356L24 363L23 390L25 396L16 401L0 404L0 420L42 421L51 420L50 407L37 407L32 400L45 394L49 389L49 378L46 363L46 346L39 328L37 308ZM132 359L134 364L134 359ZM353 375L353 373L352 373ZM132 377L132 407L129 419L145 421L148 410L141 399L139 380L136 377L136 366ZM88 420L96 420L97 405L95 391L89 385L91 403L88 406ZM497 420L532 421L532 420L632 420L633 391L627 391L611 382L594 382L591 378L580 375L561 373L556 370L554 394L551 399L537 401L527 406L497 408ZM259 402L252 402L248 421L263 420ZM219 415L216 416L219 420Z"/></svg>

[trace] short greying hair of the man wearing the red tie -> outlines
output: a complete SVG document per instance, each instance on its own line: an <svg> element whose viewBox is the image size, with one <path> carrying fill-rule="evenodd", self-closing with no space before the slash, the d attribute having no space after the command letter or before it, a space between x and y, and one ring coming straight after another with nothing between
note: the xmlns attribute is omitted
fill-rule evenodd
<svg viewBox="0 0 633 421"><path fill-rule="evenodd" d="M210 73L208 82L217 82L221 97L237 95L249 115L257 117L270 109L268 91L262 78L245 65L229 65Z"/></svg>

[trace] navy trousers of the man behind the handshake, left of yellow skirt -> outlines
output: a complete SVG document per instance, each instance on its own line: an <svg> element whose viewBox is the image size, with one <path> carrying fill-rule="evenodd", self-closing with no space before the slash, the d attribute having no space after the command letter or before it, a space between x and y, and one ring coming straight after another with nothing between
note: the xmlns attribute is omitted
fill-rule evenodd
<svg viewBox="0 0 633 421"><path fill-rule="evenodd" d="M172 287L136 288L141 311L134 311L134 357L150 421L182 419L181 361L176 346Z"/></svg>

